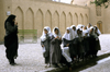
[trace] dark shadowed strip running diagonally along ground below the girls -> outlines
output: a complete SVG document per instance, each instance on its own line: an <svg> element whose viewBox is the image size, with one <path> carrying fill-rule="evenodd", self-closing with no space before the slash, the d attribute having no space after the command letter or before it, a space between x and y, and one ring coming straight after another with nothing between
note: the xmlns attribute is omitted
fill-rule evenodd
<svg viewBox="0 0 110 72"><path fill-rule="evenodd" d="M46 72L79 72L84 69L87 69L87 68L90 68L90 67L98 64L99 60L102 60L105 58L109 58L109 56L110 56L110 52L105 53L102 56L99 56L98 58L92 58L92 59L89 59L87 61L76 63L76 64L73 65L73 71L69 71L68 68L65 67L65 68L62 68L62 69L55 69L55 70L46 71Z"/></svg>

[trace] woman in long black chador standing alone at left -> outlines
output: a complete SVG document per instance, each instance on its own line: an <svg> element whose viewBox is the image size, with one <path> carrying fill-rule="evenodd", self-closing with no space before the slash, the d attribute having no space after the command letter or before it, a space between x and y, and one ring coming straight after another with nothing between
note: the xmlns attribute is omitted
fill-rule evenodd
<svg viewBox="0 0 110 72"><path fill-rule="evenodd" d="M15 15L9 15L4 22L6 36L6 56L11 65L14 65L14 59L18 56L18 23L15 22Z"/></svg>

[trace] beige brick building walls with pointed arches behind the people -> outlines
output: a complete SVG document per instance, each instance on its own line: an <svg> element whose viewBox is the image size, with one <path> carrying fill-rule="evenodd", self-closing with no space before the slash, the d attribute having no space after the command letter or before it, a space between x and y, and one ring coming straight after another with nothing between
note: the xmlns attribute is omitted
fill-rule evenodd
<svg viewBox="0 0 110 72"><path fill-rule="evenodd" d="M108 9L96 8L90 3L78 5L52 0L0 0L0 41L3 41L4 20L8 14L16 15L19 29L37 29L40 37L44 26L52 29L57 26L63 35L67 26L88 23L98 25L102 33L110 33L110 21L106 19L110 17Z"/></svg>

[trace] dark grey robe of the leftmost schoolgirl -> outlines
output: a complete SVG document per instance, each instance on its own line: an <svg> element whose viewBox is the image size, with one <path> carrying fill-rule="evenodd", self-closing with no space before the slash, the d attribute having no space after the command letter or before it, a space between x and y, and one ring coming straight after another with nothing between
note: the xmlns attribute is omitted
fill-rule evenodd
<svg viewBox="0 0 110 72"><path fill-rule="evenodd" d="M45 47L45 52L43 52L43 56L45 58L45 63L50 63L50 47L51 47L51 37L46 35L46 40L41 41L41 46Z"/></svg>

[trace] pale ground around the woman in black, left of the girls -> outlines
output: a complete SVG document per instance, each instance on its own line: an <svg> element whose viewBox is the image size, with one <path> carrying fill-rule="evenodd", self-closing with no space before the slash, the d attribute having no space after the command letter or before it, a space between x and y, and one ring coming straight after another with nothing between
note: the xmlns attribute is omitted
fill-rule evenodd
<svg viewBox="0 0 110 72"><path fill-rule="evenodd" d="M6 59L6 48L0 45L0 72L38 72L45 70L42 48L37 44L20 44L18 65L10 67Z"/></svg>

